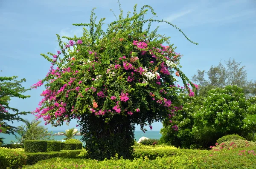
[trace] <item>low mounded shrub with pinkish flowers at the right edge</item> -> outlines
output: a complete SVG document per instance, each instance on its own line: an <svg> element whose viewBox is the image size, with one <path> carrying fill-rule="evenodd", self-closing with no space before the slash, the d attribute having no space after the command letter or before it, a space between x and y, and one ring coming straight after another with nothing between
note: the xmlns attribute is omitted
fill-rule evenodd
<svg viewBox="0 0 256 169"><path fill-rule="evenodd" d="M244 148L244 147L256 147L256 143L247 141L247 140L228 140L224 141L220 144L217 143L216 146L210 146L213 150L230 150L230 149L236 149L236 148Z"/></svg>

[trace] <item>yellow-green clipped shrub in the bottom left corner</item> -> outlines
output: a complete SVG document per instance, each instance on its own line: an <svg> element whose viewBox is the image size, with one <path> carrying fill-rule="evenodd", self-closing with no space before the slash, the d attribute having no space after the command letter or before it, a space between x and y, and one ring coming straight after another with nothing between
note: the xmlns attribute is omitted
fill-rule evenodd
<svg viewBox="0 0 256 169"><path fill-rule="evenodd" d="M26 164L27 156L23 149L0 148L0 169L19 169Z"/></svg>

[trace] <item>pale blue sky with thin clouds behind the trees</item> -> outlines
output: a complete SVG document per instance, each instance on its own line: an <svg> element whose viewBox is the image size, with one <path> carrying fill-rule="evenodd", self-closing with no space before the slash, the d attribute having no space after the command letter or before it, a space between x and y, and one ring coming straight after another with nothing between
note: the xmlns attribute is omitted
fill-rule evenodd
<svg viewBox="0 0 256 169"><path fill-rule="evenodd" d="M183 54L182 70L191 78L197 69L208 70L211 65L230 57L246 66L248 80L256 80L256 1L255 0L120 0L125 14L150 5L157 19L177 25L198 46L189 43L176 29L160 24L160 34L171 37L177 46L176 52ZM56 53L55 34L81 36L82 28L73 23L88 23L90 11L97 18L106 17L105 23L115 20L110 9L119 14L117 0L12 0L0 1L0 76L26 78L23 86L29 88L47 74L50 63L40 54ZM158 26L156 23L153 26ZM42 99L44 87L26 92L30 98L12 99L10 106L20 111L33 111ZM32 120L33 115L25 119ZM22 123L15 123L20 125ZM69 126L49 130L65 130ZM160 130L161 123L154 123L153 130ZM140 128L137 127L137 130Z"/></svg>

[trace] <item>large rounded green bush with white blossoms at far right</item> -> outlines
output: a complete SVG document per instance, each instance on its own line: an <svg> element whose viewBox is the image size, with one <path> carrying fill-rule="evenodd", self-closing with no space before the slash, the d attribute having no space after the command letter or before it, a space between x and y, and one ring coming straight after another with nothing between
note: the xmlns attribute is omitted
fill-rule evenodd
<svg viewBox="0 0 256 169"><path fill-rule="evenodd" d="M238 86L210 90L202 106L194 114L195 124L192 130L196 139L204 147L209 147L224 135L247 135L242 129L247 107L243 89Z"/></svg>

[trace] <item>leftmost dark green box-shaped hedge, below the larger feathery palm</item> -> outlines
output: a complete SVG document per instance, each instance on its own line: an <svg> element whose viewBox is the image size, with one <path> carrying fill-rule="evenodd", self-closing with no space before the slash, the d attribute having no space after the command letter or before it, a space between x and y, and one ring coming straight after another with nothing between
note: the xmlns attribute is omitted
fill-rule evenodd
<svg viewBox="0 0 256 169"><path fill-rule="evenodd" d="M47 152L47 141L26 140L24 142L25 152Z"/></svg>

